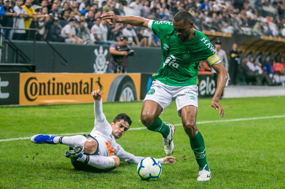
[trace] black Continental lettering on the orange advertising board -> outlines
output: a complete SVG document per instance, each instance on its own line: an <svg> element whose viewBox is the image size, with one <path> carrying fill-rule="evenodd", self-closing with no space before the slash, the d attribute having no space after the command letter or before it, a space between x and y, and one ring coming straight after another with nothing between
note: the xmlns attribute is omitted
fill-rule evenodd
<svg viewBox="0 0 285 189"><path fill-rule="evenodd" d="M55 77L46 82L38 82L37 77L29 77L25 82L24 93L28 101L34 101L38 96L63 96L90 94L93 91L93 78L76 82L58 82Z"/></svg>

